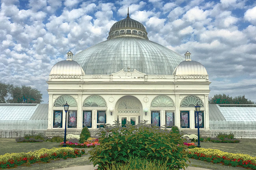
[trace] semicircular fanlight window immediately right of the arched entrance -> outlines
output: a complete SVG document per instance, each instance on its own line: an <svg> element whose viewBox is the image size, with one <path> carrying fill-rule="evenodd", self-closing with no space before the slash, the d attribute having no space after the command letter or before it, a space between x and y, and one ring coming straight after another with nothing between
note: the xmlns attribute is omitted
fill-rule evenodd
<svg viewBox="0 0 256 170"><path fill-rule="evenodd" d="M151 102L151 107L174 107L174 102L168 96L156 96Z"/></svg>

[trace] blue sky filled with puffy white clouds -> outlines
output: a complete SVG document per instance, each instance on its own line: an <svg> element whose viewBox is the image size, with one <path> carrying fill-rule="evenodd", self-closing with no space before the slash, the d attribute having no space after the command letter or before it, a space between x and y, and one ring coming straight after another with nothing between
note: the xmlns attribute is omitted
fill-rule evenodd
<svg viewBox="0 0 256 170"><path fill-rule="evenodd" d="M0 82L36 88L47 103L52 66L105 41L127 7L150 41L204 65L210 97L256 102L255 0L1 0Z"/></svg>

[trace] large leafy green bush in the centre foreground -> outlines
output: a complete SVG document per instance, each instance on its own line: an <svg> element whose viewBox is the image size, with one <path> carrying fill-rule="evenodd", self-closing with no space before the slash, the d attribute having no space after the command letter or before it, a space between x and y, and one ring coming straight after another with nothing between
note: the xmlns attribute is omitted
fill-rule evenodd
<svg viewBox="0 0 256 170"><path fill-rule="evenodd" d="M90 161L98 170L112 163L127 163L130 157L165 160L172 170L187 167L187 147L177 130L169 131L147 124L147 121L121 127L119 122L100 129L100 145L91 150ZM163 162L163 163L165 163Z"/></svg>

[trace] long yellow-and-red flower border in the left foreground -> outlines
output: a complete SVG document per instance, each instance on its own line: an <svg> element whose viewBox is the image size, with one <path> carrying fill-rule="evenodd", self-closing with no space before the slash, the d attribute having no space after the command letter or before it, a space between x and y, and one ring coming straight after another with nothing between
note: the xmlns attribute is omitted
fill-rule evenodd
<svg viewBox="0 0 256 170"><path fill-rule="evenodd" d="M37 162L49 162L51 159L68 157L81 157L85 153L84 150L73 148L52 148L36 150L34 152L6 153L0 155L0 168L12 168L22 164L33 164Z"/></svg>

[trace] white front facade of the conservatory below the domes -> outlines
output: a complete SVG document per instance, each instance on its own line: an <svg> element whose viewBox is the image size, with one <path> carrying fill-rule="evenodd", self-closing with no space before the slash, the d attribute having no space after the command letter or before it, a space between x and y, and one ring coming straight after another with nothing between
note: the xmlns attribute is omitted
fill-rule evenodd
<svg viewBox="0 0 256 170"><path fill-rule="evenodd" d="M154 123L154 120L159 118L156 115L160 115L160 124L159 121L156 121L158 126L166 124L165 114L171 112L174 113L175 126L184 130L195 129L194 106L197 103L201 103L201 111L204 112L203 129L209 129L208 96L210 82L208 75L146 75L134 68L128 68L111 75L50 74L47 83L49 85L48 129L65 128L65 111L61 104L65 104L66 101L64 100L67 99L67 96L71 96L72 100L76 102L69 107L70 111L76 111L76 127L69 128L68 126L68 129L82 129L83 111L91 111L89 129L96 129L97 125L100 125L100 120L98 120L100 115L97 116L97 111L106 111L106 124L113 124L116 120L121 122L122 119L135 121L135 124L139 120ZM98 96L106 102L103 101L102 107L95 107L100 105L97 102L102 102ZM61 97L61 101L59 97ZM86 106L83 105L88 97L91 98L90 102L92 103L89 107L88 103ZM157 99L154 100L154 98ZM57 100L62 103L56 104ZM154 103L152 103L153 100ZM182 100L186 100L185 104ZM181 105L181 103L183 104ZM167 107L165 107L166 105ZM59 117L57 119L54 117L56 111L62 111L62 115L60 115L62 121L59 120ZM182 117L181 111L188 111L189 118ZM104 115L104 112L100 114ZM151 122L152 114L156 114L154 115L156 119L153 122ZM103 118L101 119L103 120ZM183 118L184 120L182 120ZM186 120L189 126L187 126ZM56 125L54 122L57 121L61 122L59 122L58 127L54 127ZM186 126L182 126L181 122L185 123Z"/></svg>

